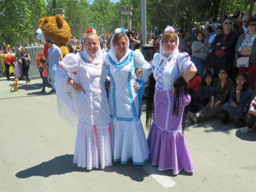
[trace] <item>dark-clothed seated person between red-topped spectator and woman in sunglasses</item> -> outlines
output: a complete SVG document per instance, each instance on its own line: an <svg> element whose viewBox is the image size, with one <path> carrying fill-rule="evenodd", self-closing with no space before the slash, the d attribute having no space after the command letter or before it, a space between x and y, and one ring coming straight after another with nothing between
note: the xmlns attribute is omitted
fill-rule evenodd
<svg viewBox="0 0 256 192"><path fill-rule="evenodd" d="M194 99L194 105L196 106L195 112L197 112L197 108L199 108L200 105L205 106L210 99L210 93L213 83L212 74L206 73L203 79L204 82L201 84L200 89L195 95Z"/></svg>

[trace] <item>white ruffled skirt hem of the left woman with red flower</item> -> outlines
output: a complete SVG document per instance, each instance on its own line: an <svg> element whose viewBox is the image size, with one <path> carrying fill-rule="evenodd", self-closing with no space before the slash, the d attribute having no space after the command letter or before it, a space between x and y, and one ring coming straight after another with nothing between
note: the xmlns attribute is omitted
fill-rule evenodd
<svg viewBox="0 0 256 192"><path fill-rule="evenodd" d="M110 143L110 131L107 128L88 127L78 124L73 163L78 167L104 168L112 165L112 153Z"/></svg>

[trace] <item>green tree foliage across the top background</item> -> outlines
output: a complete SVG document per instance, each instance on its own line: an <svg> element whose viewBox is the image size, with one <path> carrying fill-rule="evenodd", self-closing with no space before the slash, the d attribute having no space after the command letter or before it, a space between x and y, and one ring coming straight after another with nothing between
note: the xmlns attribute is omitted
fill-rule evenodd
<svg viewBox="0 0 256 192"><path fill-rule="evenodd" d="M227 11L249 11L256 0L146 0L147 30L174 27L189 29L194 21L205 21ZM53 7L65 9L71 34L81 37L87 28L113 32L120 27L120 6L131 5L132 29L141 29L140 0L0 0L0 38L14 45L37 41L34 35L39 19L53 15ZM127 27L127 19L124 22ZM1 40L0 39L0 40Z"/></svg>

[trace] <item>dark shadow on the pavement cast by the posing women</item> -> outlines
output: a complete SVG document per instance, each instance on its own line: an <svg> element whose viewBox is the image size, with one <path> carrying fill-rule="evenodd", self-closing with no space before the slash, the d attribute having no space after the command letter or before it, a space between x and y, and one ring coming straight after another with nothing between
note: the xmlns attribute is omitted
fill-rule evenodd
<svg viewBox="0 0 256 192"><path fill-rule="evenodd" d="M113 166L101 168L93 168L87 170L86 168L77 167L77 164L73 163L73 154L64 154L50 159L46 162L42 162L38 165L21 170L15 174L18 178L28 178L31 176L43 176L48 177L55 174L65 174L69 172L90 172L90 171L105 171L116 172L124 176L129 176L132 180L143 181L144 177L149 176L142 168L136 168L131 162L127 164L120 164L118 162L113 163Z"/></svg>

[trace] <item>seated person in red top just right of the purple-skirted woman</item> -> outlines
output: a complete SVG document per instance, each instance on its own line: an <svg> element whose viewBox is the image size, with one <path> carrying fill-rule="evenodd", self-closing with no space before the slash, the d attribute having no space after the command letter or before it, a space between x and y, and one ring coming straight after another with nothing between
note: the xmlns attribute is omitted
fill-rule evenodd
<svg viewBox="0 0 256 192"><path fill-rule="evenodd" d="M189 93L191 99L190 99L190 103L187 106L185 106L186 111L193 111L193 112L197 111L197 105L195 104L194 101L195 101L195 97L196 97L195 95L200 89L201 82L202 82L202 80L198 73L195 73L193 78L191 78L189 80L187 89L188 89L188 93Z"/></svg>

